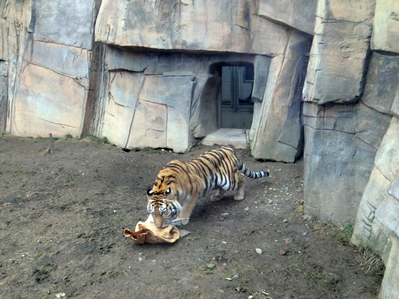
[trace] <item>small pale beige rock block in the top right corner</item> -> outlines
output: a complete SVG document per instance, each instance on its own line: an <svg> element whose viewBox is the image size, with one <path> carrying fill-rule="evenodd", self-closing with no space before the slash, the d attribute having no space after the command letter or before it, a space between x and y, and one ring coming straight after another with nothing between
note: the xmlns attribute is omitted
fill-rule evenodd
<svg viewBox="0 0 399 299"><path fill-rule="evenodd" d="M371 38L372 50L399 53L399 2L376 0L376 14Z"/></svg>

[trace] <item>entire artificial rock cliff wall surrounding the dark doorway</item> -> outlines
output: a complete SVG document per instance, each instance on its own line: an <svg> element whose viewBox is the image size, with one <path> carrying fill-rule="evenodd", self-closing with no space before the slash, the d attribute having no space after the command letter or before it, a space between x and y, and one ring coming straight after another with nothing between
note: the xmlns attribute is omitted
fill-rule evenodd
<svg viewBox="0 0 399 299"><path fill-rule="evenodd" d="M0 133L186 151L219 127L220 70L253 66L256 158L304 151L305 211L399 297L396 0L0 0ZM303 147L304 145L304 147Z"/></svg>

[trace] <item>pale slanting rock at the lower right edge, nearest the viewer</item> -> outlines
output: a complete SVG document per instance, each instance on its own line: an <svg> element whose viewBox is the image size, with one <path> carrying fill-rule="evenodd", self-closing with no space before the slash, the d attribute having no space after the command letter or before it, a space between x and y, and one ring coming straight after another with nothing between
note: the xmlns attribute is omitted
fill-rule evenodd
<svg viewBox="0 0 399 299"><path fill-rule="evenodd" d="M363 193L352 242L381 253L386 265L379 298L397 298L399 251L399 119L391 124L376 154L372 175Z"/></svg>

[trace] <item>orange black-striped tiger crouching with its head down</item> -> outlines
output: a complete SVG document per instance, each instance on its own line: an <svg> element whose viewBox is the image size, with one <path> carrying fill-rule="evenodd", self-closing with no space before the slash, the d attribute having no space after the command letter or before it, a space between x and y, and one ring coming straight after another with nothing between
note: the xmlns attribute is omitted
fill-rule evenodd
<svg viewBox="0 0 399 299"><path fill-rule="evenodd" d="M152 189L147 190L149 221L158 228L186 225L199 197L217 189L210 197L218 201L226 191L236 191L235 200L244 199L244 175L269 176L252 172L230 147L219 147L188 162L172 160L161 169Z"/></svg>

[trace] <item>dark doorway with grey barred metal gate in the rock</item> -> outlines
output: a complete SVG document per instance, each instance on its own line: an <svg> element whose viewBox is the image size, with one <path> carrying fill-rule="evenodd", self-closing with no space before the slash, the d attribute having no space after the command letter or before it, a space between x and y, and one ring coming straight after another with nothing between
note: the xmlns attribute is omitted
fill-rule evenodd
<svg viewBox="0 0 399 299"><path fill-rule="evenodd" d="M220 128L251 129L253 65L221 67Z"/></svg>

